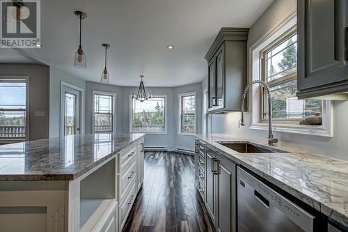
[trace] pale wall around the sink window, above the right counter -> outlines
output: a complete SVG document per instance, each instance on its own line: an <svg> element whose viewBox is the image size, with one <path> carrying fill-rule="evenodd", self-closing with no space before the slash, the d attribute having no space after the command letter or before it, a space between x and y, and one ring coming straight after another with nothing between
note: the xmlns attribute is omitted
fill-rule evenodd
<svg viewBox="0 0 348 232"><path fill-rule="evenodd" d="M269 6L260 19L251 27L248 36L248 47L251 47L258 39L270 31L276 24L296 10L296 0L276 0ZM249 114L246 114L248 122ZM331 157L348 160L348 102L333 102L333 137L317 137L305 134L292 134L275 132L280 146L289 146L319 153ZM267 141L267 130L251 130L246 127L238 127L240 112L232 112L212 117L213 133L236 134L251 139Z"/></svg>

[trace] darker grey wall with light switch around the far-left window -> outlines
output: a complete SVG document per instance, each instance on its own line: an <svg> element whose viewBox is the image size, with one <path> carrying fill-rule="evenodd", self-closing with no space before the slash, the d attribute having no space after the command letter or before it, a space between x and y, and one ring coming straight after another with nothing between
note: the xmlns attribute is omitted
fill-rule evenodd
<svg viewBox="0 0 348 232"><path fill-rule="evenodd" d="M29 76L29 140L48 138L49 66L0 63L1 76ZM35 117L35 111L44 111L45 117Z"/></svg>

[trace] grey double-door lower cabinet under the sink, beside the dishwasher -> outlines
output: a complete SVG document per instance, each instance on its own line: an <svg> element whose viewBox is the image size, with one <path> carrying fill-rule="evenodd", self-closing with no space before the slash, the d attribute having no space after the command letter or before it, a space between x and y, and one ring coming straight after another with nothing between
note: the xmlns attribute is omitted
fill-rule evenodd
<svg viewBox="0 0 348 232"><path fill-rule="evenodd" d="M205 146L205 208L216 231L236 231L236 164L209 146Z"/></svg>

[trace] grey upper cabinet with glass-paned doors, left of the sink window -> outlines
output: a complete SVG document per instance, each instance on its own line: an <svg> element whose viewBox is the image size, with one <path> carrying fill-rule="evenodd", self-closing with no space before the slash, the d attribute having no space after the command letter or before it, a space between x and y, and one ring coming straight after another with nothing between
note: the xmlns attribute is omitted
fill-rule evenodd
<svg viewBox="0 0 348 232"><path fill-rule="evenodd" d="M205 55L208 62L209 113L241 111L246 86L248 29L223 27Z"/></svg>

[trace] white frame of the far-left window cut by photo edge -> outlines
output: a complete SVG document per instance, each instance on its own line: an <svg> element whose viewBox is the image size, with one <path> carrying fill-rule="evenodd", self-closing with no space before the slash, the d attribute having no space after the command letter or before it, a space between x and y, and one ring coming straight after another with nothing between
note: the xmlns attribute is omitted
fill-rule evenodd
<svg viewBox="0 0 348 232"><path fill-rule="evenodd" d="M0 144L7 144L8 142L15 142L15 141L29 141L29 76L0 76L0 81L4 82L6 80L25 80L26 82L26 119L25 119L25 137L24 139L10 139L10 138L6 138L6 139L1 139L0 138Z"/></svg>

